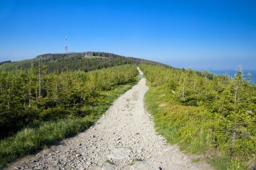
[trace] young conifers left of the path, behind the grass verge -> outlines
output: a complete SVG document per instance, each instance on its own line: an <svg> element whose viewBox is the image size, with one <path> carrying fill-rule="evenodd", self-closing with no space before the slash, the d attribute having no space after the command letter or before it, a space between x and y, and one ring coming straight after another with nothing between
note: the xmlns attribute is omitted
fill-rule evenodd
<svg viewBox="0 0 256 170"><path fill-rule="evenodd" d="M61 118L84 117L101 101L102 91L135 81L132 65L98 71L47 71L46 65L0 72L0 137L30 125Z"/></svg>

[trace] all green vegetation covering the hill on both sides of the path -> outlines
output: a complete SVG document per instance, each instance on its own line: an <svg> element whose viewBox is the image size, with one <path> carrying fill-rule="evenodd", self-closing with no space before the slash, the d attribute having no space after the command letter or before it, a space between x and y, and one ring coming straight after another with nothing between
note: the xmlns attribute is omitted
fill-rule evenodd
<svg viewBox="0 0 256 170"><path fill-rule="evenodd" d="M148 109L168 142L205 155L216 169L256 159L256 87L239 67L231 79L104 52L43 54L0 63L0 168L89 128L146 76ZM198 160L195 160L198 161Z"/></svg>

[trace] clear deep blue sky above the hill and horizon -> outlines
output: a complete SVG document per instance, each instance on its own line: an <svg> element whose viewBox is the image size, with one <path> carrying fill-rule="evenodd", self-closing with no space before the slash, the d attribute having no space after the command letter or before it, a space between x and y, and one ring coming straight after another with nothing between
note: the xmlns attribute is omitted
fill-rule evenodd
<svg viewBox="0 0 256 170"><path fill-rule="evenodd" d="M0 60L100 51L193 69L256 69L256 1L0 1Z"/></svg>

